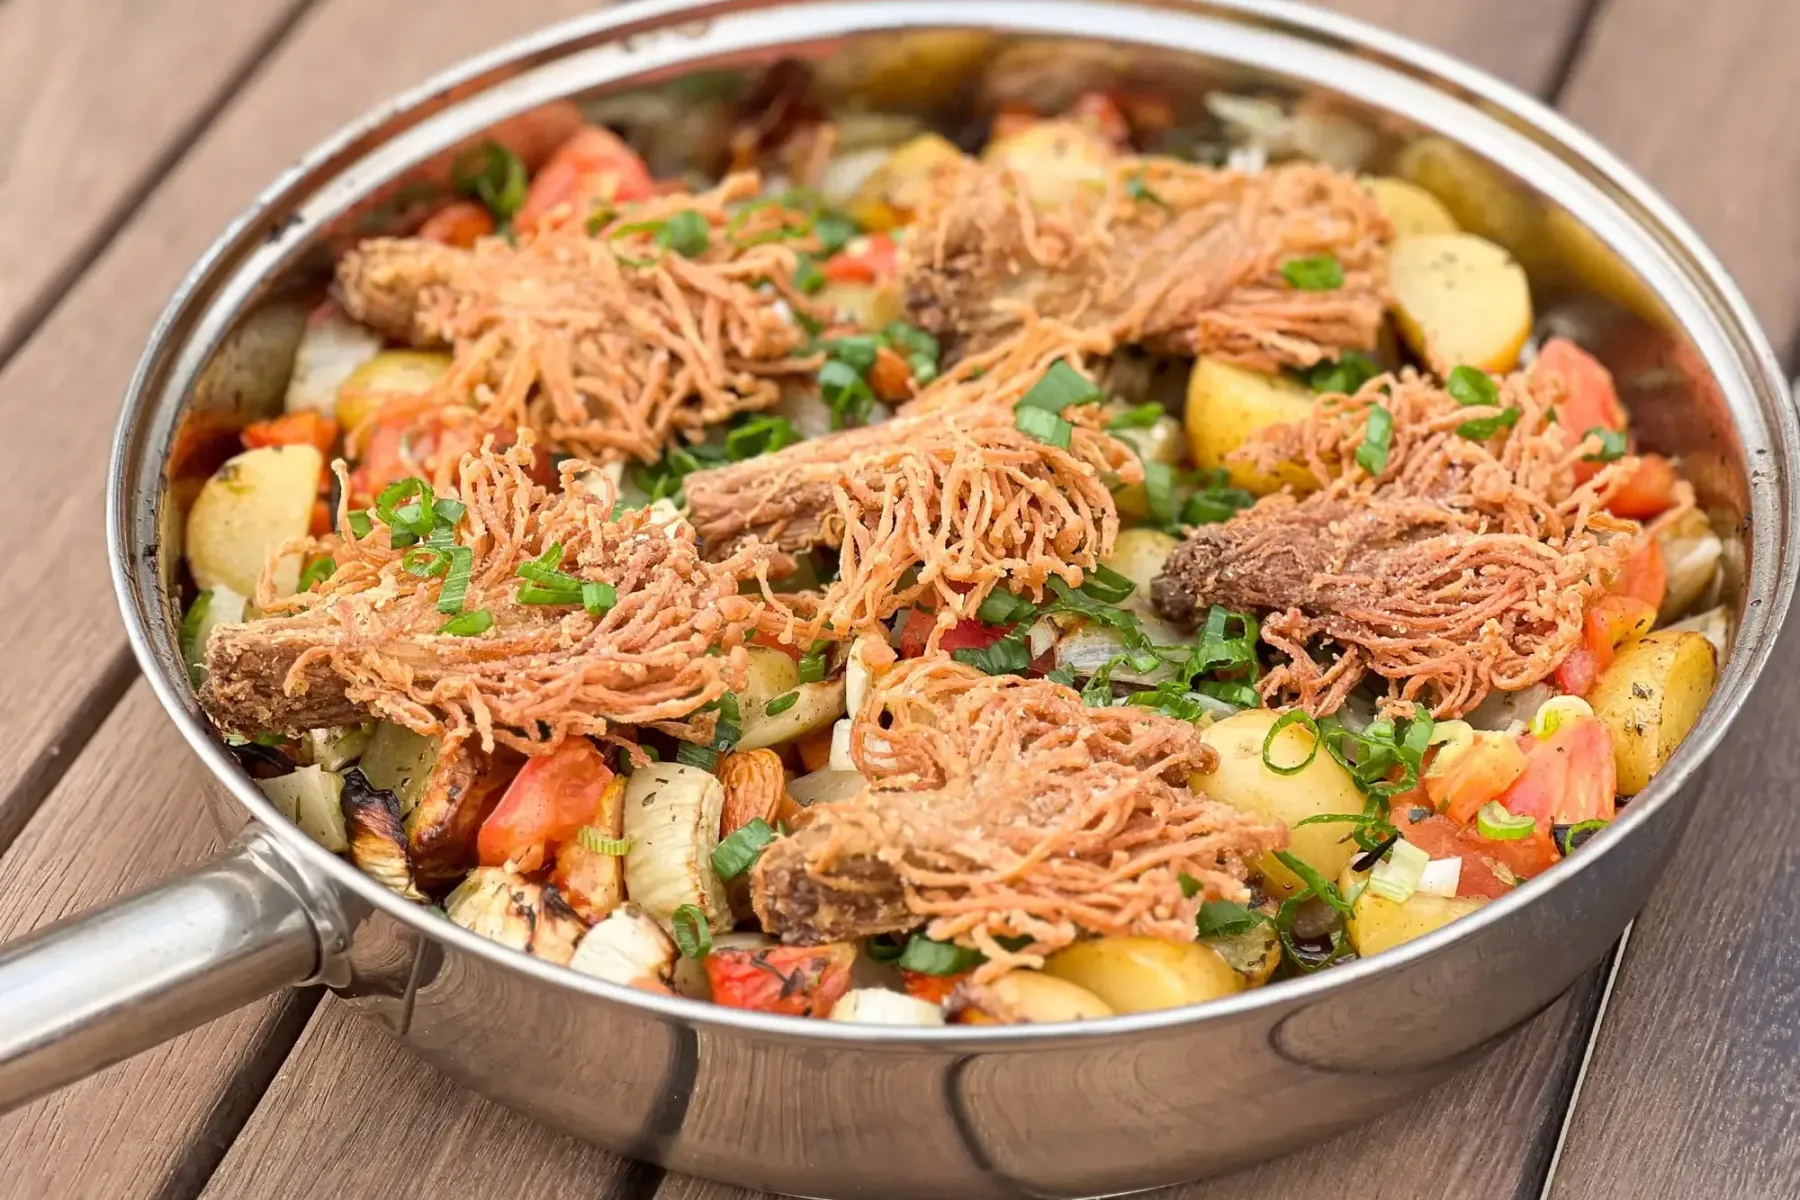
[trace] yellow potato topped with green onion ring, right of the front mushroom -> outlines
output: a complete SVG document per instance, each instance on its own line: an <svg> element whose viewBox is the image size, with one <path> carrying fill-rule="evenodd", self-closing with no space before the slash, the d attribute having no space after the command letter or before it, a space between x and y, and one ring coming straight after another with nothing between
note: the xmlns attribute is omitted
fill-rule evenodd
<svg viewBox="0 0 1800 1200"><path fill-rule="evenodd" d="M1278 716L1271 709L1246 709L1202 730L1201 739L1219 752L1219 766L1210 775L1195 775L1193 786L1231 808L1283 822L1289 853L1325 878L1336 878L1357 853L1350 826L1294 826L1321 813L1361 813L1363 793L1325 747L1318 747L1312 761L1292 775L1269 770L1262 761L1262 743ZM1310 745L1312 734L1289 725L1269 747L1269 761L1291 766L1307 757ZM1269 892L1282 900L1305 889L1274 855L1262 858L1262 876Z"/></svg>

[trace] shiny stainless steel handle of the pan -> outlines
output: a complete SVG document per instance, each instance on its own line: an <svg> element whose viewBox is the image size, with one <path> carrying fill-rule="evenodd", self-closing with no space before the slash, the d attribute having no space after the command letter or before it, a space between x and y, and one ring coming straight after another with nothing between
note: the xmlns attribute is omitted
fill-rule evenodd
<svg viewBox="0 0 1800 1200"><path fill-rule="evenodd" d="M0 1112L311 982L331 923L252 826L185 874L0 946Z"/></svg>

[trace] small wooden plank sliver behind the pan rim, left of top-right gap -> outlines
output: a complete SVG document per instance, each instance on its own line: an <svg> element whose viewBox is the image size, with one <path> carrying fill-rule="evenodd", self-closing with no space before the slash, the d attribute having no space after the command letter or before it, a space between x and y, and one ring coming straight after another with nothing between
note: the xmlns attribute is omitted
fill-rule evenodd
<svg viewBox="0 0 1800 1200"><path fill-rule="evenodd" d="M1591 0L1321 0L1544 95Z"/></svg>

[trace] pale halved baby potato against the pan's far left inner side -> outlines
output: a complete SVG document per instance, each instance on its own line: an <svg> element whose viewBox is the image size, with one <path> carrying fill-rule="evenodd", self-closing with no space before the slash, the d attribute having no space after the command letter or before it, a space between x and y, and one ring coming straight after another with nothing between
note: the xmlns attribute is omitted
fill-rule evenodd
<svg viewBox="0 0 1800 1200"><path fill-rule="evenodd" d="M216 470L187 511L194 583L256 597L268 556L311 525L324 464L313 446L261 446ZM299 578L301 556L288 554L275 567L275 590L292 592Z"/></svg>

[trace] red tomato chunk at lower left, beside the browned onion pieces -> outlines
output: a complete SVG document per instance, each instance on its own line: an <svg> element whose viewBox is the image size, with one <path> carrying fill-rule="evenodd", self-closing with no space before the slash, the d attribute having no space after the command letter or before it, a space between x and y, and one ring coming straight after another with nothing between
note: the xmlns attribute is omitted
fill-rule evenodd
<svg viewBox="0 0 1800 1200"><path fill-rule="evenodd" d="M581 826L601 819L610 783L612 768L587 738L569 738L531 759L481 822L481 865L540 869Z"/></svg>

